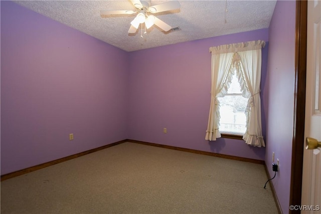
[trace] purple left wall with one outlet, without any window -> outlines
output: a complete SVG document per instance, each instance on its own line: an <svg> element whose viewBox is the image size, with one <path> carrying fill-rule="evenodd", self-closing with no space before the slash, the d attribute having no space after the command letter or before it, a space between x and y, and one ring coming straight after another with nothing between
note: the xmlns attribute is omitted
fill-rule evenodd
<svg viewBox="0 0 321 214"><path fill-rule="evenodd" d="M120 49L1 1L1 174L126 139L127 61Z"/></svg>

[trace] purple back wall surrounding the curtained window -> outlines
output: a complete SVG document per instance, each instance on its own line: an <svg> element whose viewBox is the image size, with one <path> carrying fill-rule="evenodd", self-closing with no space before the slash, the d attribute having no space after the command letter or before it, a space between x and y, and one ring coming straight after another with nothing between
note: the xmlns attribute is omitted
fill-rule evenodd
<svg viewBox="0 0 321 214"><path fill-rule="evenodd" d="M252 40L268 41L268 29L129 53L129 139L264 160L264 147L227 138L205 140L211 99L209 48ZM265 134L267 47L262 55Z"/></svg>

